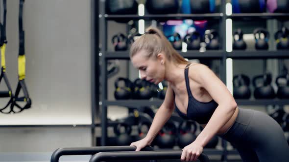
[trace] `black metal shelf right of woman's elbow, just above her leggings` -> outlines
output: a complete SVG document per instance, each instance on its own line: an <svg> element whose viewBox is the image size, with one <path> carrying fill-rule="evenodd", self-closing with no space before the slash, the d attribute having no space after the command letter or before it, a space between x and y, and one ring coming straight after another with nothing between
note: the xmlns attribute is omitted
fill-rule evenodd
<svg viewBox="0 0 289 162"><path fill-rule="evenodd" d="M287 105L289 104L289 100L278 100L278 99L273 99L273 100L267 100L267 99L260 99L260 100L236 100L237 104L239 105Z"/></svg>

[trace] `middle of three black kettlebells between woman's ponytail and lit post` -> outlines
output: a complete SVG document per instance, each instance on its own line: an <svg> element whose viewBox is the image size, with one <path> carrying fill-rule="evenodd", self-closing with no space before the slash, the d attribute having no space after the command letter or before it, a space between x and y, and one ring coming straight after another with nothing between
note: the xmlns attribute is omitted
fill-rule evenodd
<svg viewBox="0 0 289 162"><path fill-rule="evenodd" d="M187 43L187 50L199 50L201 48L200 33L193 31L184 37L184 42Z"/></svg>

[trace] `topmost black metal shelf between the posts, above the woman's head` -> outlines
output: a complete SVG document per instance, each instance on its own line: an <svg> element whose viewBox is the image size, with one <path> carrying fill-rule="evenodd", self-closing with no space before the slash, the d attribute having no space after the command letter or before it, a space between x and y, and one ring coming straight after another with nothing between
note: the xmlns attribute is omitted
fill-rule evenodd
<svg viewBox="0 0 289 162"><path fill-rule="evenodd" d="M213 14L163 14L163 15L107 15L104 17L106 20L219 20L223 16L223 13L213 13Z"/></svg>

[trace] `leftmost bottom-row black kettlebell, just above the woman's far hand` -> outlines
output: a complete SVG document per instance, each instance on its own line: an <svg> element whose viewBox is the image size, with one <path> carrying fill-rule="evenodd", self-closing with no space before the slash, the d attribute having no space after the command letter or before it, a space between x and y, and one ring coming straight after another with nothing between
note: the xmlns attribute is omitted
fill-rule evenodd
<svg viewBox="0 0 289 162"><path fill-rule="evenodd" d="M116 134L116 144L119 146L127 146L132 140L130 137L131 126L125 122L115 124L114 132Z"/></svg>

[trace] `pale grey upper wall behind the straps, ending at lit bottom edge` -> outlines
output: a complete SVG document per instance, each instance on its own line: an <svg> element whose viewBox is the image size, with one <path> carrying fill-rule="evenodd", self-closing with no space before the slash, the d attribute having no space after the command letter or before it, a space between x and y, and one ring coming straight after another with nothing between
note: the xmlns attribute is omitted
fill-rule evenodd
<svg viewBox="0 0 289 162"><path fill-rule="evenodd" d="M7 0L6 63L13 92L18 82L18 10L19 0ZM0 114L0 125L90 124L91 0L25 0L24 31L32 106L20 114ZM0 99L0 105L6 102Z"/></svg>

